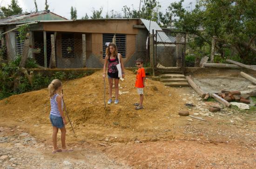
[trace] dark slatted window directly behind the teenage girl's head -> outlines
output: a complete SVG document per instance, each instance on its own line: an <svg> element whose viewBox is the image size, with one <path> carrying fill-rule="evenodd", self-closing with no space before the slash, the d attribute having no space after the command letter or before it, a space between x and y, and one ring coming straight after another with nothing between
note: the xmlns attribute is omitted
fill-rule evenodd
<svg viewBox="0 0 256 169"><path fill-rule="evenodd" d="M122 57L126 57L126 34L103 33L103 59L106 57L106 48L108 47L106 43L112 42L114 35L118 53L120 53Z"/></svg>

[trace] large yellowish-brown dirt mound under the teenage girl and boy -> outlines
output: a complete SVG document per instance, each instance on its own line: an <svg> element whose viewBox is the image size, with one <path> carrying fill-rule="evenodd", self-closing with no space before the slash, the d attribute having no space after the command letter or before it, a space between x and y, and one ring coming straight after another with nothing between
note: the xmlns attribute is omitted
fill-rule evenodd
<svg viewBox="0 0 256 169"><path fill-rule="evenodd" d="M63 84L64 100L76 132L72 141L127 142L136 139L172 138L173 135L168 134L173 125L171 119L177 117L174 114L184 107L177 89L147 79L144 109L136 111L133 103L139 101L139 96L134 87L135 74L128 70L125 81L120 81L120 91L124 93L119 97L120 103L107 105L107 111L104 109L101 71L73 81L65 81ZM106 102L107 100L106 79ZM47 88L13 95L0 100L0 105L0 116L6 123L16 121L14 125L23 126L42 138L45 138L45 134L51 134ZM68 134L72 133L70 125L67 125L67 130Z"/></svg>

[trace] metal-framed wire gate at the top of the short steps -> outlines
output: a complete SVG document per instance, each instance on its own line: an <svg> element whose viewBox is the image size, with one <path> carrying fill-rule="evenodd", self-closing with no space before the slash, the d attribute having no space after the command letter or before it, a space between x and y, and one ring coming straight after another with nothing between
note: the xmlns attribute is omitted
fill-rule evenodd
<svg viewBox="0 0 256 169"><path fill-rule="evenodd" d="M155 31L154 70L184 74L185 51L186 32Z"/></svg>

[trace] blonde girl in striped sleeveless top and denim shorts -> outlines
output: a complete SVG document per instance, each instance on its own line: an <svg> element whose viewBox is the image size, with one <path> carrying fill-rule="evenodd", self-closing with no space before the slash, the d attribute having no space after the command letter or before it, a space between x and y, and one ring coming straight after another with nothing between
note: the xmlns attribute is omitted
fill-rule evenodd
<svg viewBox="0 0 256 169"><path fill-rule="evenodd" d="M59 79L54 79L48 86L51 102L50 120L53 125L53 153L72 151L66 146L66 127L67 120L63 113L63 94L61 94L62 83ZM61 129L62 149L57 146L57 133Z"/></svg>

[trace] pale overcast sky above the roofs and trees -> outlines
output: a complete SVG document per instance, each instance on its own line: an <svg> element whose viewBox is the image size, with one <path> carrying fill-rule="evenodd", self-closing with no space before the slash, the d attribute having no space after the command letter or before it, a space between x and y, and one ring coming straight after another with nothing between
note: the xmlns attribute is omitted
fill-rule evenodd
<svg viewBox="0 0 256 169"><path fill-rule="evenodd" d="M165 12L165 9L171 2L178 2L179 0L158 0L162 6L160 11ZM11 0L0 0L0 6L7 6ZM38 10L45 9L45 0L36 0ZM184 0L183 6L190 10L189 3L192 2L192 7L195 6L195 0ZM18 0L20 7L23 12L35 11L34 0ZM85 16L87 13L90 17L92 15L93 8L95 10L103 7L103 16L112 9L114 11L122 12L123 6L134 6L135 9L139 9L140 0L47 0L49 9L51 12L59 14L67 19L70 19L70 8L71 6L77 9L77 19Z"/></svg>

